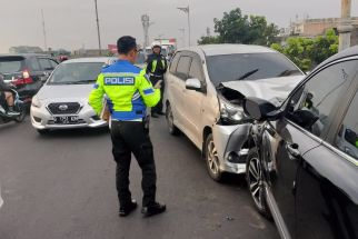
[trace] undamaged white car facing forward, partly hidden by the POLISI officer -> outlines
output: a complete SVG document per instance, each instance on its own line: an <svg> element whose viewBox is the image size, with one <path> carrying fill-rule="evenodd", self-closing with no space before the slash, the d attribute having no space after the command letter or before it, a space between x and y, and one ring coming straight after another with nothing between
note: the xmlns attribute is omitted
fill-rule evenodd
<svg viewBox="0 0 358 239"><path fill-rule="evenodd" d="M32 99L31 122L38 132L107 127L88 104L88 96L101 69L113 61L113 58L83 58L59 64Z"/></svg>

